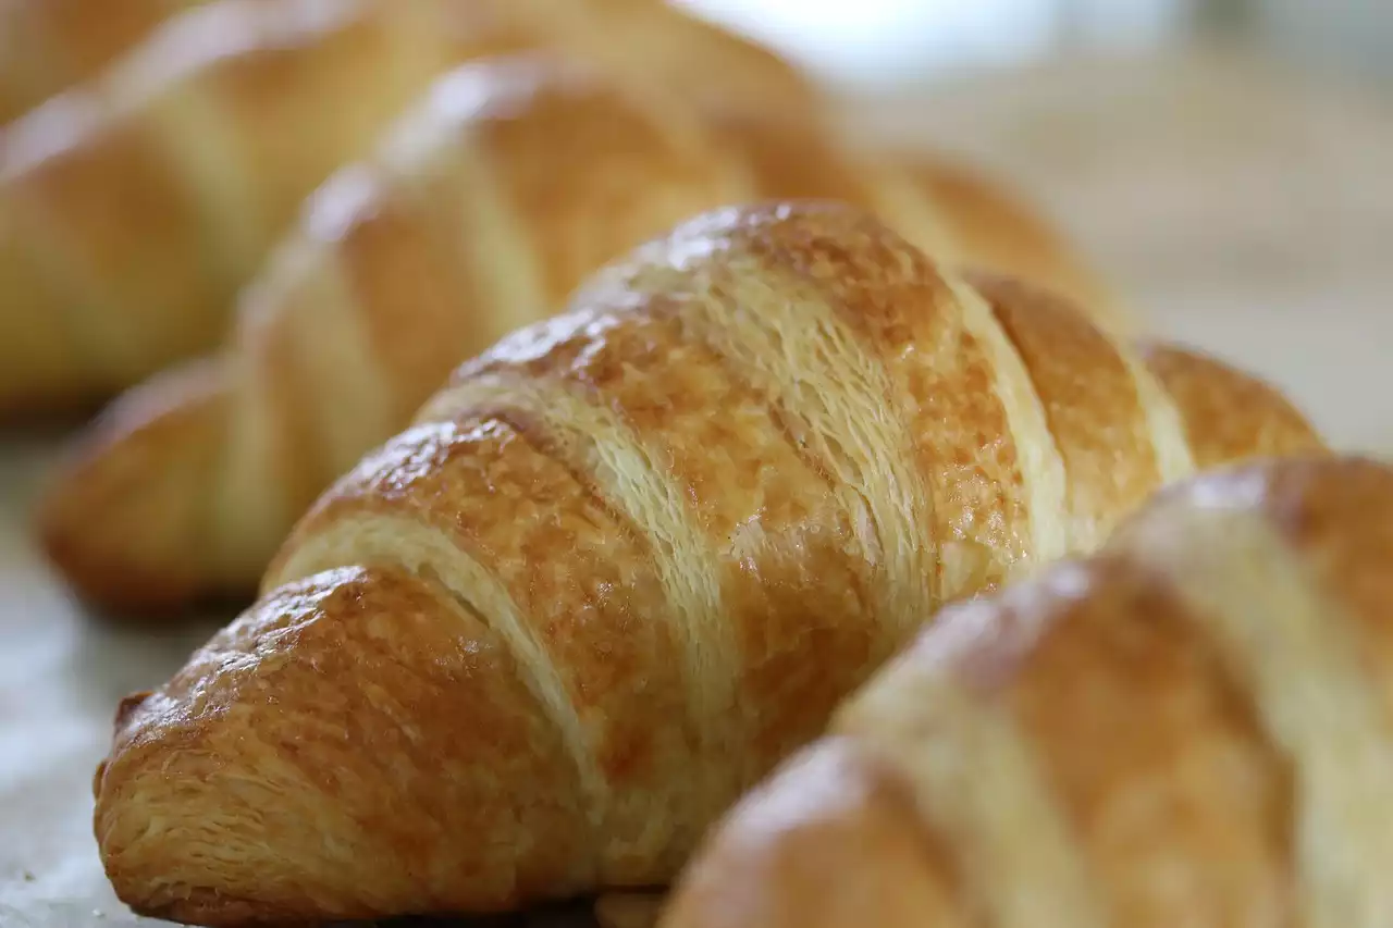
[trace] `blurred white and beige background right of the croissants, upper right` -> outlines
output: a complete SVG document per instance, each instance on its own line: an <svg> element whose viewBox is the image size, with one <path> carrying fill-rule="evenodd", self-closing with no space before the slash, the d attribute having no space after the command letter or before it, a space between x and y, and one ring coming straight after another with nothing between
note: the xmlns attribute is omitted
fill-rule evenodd
<svg viewBox="0 0 1393 928"><path fill-rule="evenodd" d="M1393 449L1393 3L681 0L1052 209L1153 327Z"/></svg>

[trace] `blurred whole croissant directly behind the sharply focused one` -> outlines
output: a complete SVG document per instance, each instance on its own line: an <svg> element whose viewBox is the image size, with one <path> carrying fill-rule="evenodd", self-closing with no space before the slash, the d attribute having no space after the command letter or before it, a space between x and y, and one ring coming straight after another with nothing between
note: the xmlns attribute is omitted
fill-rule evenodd
<svg viewBox="0 0 1393 928"><path fill-rule="evenodd" d="M853 160L812 130L577 65L476 63L316 194L226 357L107 414L43 506L45 545L109 606L248 592L295 517L461 359L683 219L814 195L875 208L949 261L1112 305L1028 209L949 163Z"/></svg>

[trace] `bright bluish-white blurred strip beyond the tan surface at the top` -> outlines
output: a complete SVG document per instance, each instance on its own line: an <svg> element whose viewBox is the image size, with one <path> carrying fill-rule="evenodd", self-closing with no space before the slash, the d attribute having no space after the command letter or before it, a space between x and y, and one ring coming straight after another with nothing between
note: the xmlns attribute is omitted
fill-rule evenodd
<svg viewBox="0 0 1393 928"><path fill-rule="evenodd" d="M1133 54L1224 39L1393 77L1393 7L1378 0L678 0L832 81L885 89L960 71Z"/></svg>

